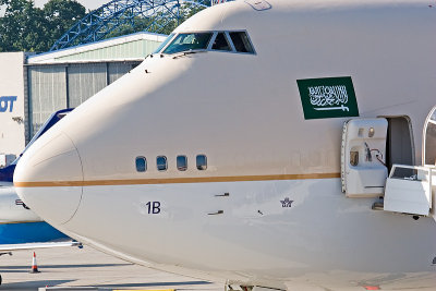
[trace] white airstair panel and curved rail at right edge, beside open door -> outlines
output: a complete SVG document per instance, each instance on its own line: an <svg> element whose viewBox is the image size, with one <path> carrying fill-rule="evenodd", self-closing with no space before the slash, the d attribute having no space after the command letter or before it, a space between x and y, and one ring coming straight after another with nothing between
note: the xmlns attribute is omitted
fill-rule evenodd
<svg viewBox="0 0 436 291"><path fill-rule="evenodd" d="M393 165L386 183L384 209L432 216L436 220L436 107L423 129L423 166ZM409 170L404 174L404 170Z"/></svg>

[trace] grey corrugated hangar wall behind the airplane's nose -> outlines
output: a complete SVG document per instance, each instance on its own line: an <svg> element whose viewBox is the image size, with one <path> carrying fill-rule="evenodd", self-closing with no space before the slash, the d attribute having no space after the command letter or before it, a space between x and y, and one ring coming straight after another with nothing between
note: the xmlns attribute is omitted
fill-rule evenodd
<svg viewBox="0 0 436 291"><path fill-rule="evenodd" d="M141 62L99 62L27 66L28 122L26 143L57 110L74 108Z"/></svg>

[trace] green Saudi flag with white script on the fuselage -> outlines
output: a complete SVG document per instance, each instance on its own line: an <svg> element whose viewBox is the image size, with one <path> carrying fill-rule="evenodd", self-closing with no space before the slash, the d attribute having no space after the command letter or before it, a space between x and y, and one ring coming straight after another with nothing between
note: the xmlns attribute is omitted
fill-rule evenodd
<svg viewBox="0 0 436 291"><path fill-rule="evenodd" d="M304 119L359 117L351 76L296 80Z"/></svg>

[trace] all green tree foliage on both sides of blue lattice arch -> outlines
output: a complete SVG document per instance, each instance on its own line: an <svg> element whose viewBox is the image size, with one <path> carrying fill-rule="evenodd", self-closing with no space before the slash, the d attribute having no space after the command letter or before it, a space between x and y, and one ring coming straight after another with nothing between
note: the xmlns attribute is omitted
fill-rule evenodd
<svg viewBox="0 0 436 291"><path fill-rule="evenodd" d="M133 10L125 12L116 22L102 27L104 38L147 31L169 34L186 19L203 10L198 3L171 2L153 14L138 15ZM85 8L76 0L49 0L44 9L35 8L33 0L0 0L5 14L0 17L0 51L47 51L70 27L85 16ZM83 39L77 38L76 44Z"/></svg>

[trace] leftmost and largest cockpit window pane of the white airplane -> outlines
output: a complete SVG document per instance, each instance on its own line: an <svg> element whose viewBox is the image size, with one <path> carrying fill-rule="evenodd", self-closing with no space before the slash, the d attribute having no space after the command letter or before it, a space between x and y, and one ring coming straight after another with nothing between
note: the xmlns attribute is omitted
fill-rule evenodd
<svg viewBox="0 0 436 291"><path fill-rule="evenodd" d="M179 34L164 50L164 53L207 49L211 36L213 33Z"/></svg>

